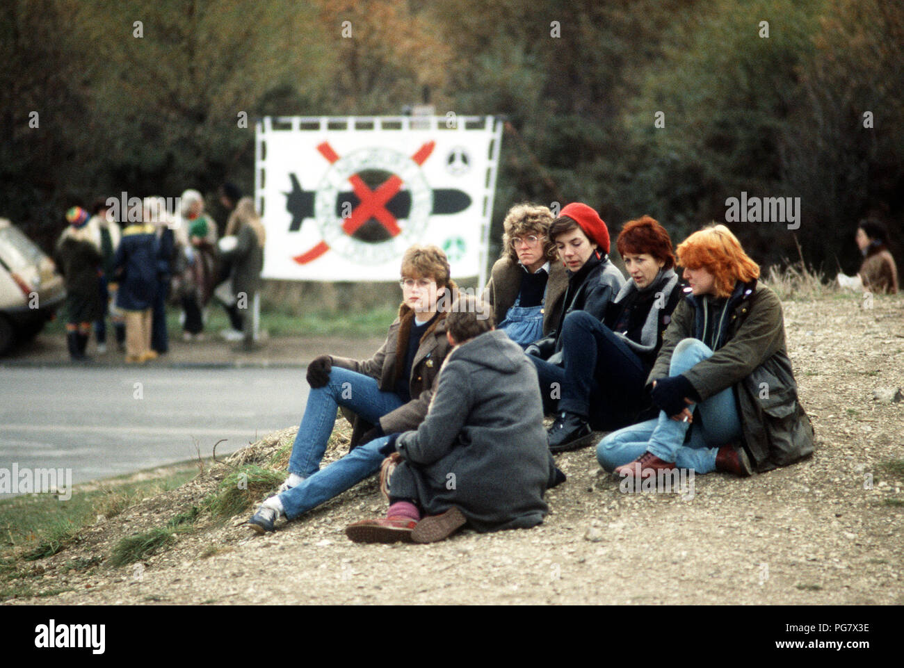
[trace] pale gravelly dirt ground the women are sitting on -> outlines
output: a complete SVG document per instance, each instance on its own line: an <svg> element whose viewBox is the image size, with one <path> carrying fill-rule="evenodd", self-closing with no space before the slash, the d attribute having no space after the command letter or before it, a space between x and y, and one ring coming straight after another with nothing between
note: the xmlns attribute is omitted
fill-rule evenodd
<svg viewBox="0 0 904 668"><path fill-rule="evenodd" d="M28 568L40 604L904 604L900 540L904 299L853 296L785 304L788 351L817 447L805 462L747 479L697 476L694 494L623 494L594 448L558 456L568 482L531 530L462 532L433 545L356 545L350 522L385 511L375 480L257 537L201 518L174 547L112 568L119 538L201 503L219 467L99 521L80 541ZM266 460L295 428L240 452ZM327 459L344 452L334 447ZM67 562L97 557L84 571Z"/></svg>

